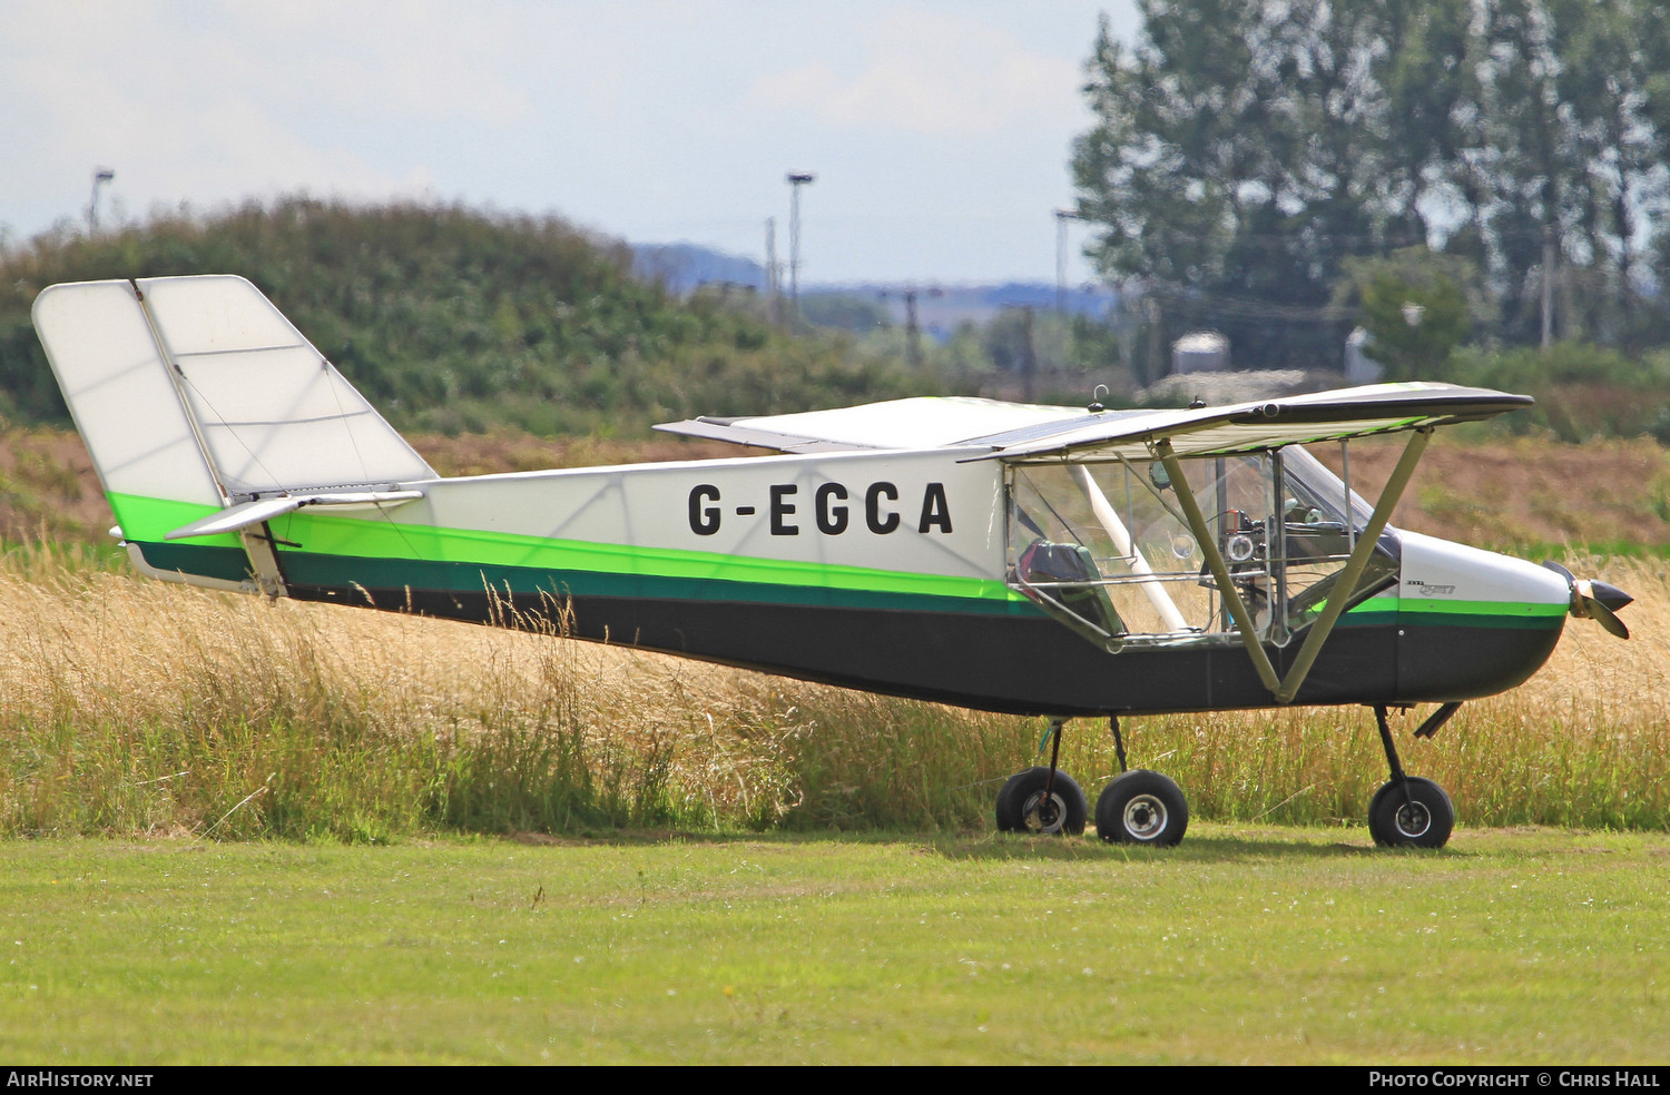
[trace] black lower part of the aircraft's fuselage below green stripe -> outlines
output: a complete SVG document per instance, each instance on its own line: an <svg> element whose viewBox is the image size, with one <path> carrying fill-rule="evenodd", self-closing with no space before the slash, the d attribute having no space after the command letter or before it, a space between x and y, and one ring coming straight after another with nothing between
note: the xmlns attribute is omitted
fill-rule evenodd
<svg viewBox="0 0 1670 1095"><path fill-rule="evenodd" d="M486 593L289 586L304 601L354 603L476 623L551 626L549 599ZM805 681L1012 714L1156 714L1278 706L1239 644L1109 654L1047 618L740 601L573 598L564 634L762 669ZM1558 629L1338 628L1296 704L1471 699L1518 684ZM1278 673L1298 656L1266 648ZM1404 661L1420 663L1420 673ZM1401 679L1399 679L1401 678Z"/></svg>

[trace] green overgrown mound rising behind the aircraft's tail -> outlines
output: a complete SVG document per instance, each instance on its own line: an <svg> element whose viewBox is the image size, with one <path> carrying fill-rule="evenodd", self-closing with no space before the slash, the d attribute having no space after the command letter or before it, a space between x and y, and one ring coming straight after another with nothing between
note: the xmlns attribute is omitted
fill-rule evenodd
<svg viewBox="0 0 1670 1095"><path fill-rule="evenodd" d="M922 391L833 334L788 336L725 294L633 277L620 242L554 217L312 199L0 254L0 416L67 422L28 319L53 282L242 274L402 429L643 436Z"/></svg>

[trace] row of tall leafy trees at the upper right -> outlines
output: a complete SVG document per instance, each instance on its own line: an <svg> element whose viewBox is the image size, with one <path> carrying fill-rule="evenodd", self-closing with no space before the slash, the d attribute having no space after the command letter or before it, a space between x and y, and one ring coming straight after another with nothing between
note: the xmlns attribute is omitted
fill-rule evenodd
<svg viewBox="0 0 1670 1095"><path fill-rule="evenodd" d="M1336 367L1348 257L1425 245L1485 334L1670 334L1670 13L1652 0L1139 0L1087 62L1087 249L1164 337ZM1152 346L1159 346L1156 337ZM1152 356L1152 352L1151 352Z"/></svg>

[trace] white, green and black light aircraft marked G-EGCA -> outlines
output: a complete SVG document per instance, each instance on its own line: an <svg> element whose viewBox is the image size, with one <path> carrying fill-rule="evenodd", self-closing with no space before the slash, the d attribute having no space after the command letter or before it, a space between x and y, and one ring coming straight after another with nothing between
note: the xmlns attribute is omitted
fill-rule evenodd
<svg viewBox="0 0 1670 1095"><path fill-rule="evenodd" d="M250 282L52 285L35 329L144 574L568 634L845 688L1047 716L1050 763L1002 830L1080 833L1057 766L1107 718L1104 840L1174 845L1177 785L1127 770L1121 718L1374 709L1379 845L1441 846L1448 795L1404 775L1388 708L1525 681L1603 583L1386 519L1433 431L1528 406L1376 384L1182 411L900 399L660 429L777 456L441 477ZM1373 504L1349 441L1408 437ZM1339 444L1341 474L1304 446Z"/></svg>

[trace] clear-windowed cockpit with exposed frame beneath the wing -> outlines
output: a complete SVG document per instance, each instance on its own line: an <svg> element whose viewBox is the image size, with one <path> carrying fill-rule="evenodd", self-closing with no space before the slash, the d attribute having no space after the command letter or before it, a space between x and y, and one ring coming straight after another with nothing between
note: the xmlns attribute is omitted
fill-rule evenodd
<svg viewBox="0 0 1670 1095"><path fill-rule="evenodd" d="M1204 517L1222 574L1261 641L1303 633L1334 594L1373 512L1299 446L1177 461L1014 462L1007 469L1009 584L1086 639L1241 643L1229 599L1187 519ZM1381 534L1346 608L1396 584L1396 532Z"/></svg>

